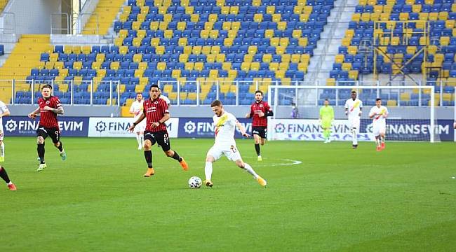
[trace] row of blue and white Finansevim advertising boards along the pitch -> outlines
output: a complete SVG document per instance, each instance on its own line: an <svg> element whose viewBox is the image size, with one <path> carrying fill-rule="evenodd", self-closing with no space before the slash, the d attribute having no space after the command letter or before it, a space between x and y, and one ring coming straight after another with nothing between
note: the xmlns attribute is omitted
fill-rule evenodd
<svg viewBox="0 0 456 252"><path fill-rule="evenodd" d="M247 132L252 131L252 121L239 118ZM429 121L427 120L398 120L387 121L387 136L389 141L429 141ZM436 134L441 141L455 141L453 120L438 120ZM5 136L35 136L39 120L26 116L11 116L4 118ZM65 137L134 137L128 132L133 124L133 118L115 117L61 117L59 120L62 136ZM372 120L361 120L359 141L372 141ZM269 120L268 137L274 140L323 141L318 120L309 119L275 119ZM212 118L171 118L166 127L172 138L213 138L214 125ZM333 123L333 140L351 140L350 127L347 120L335 120ZM236 138L242 138L236 131Z"/></svg>

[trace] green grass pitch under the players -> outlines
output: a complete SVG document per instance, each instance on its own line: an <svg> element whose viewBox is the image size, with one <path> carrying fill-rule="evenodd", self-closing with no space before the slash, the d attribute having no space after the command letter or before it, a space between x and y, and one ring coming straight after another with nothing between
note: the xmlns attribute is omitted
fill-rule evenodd
<svg viewBox="0 0 456 252"><path fill-rule="evenodd" d="M154 146L151 178L133 138L64 137L65 162L48 139L43 172L35 138L5 141L0 251L455 251L454 143L274 141L257 162L238 140L267 188L222 158L194 190L213 139L171 139L189 172Z"/></svg>

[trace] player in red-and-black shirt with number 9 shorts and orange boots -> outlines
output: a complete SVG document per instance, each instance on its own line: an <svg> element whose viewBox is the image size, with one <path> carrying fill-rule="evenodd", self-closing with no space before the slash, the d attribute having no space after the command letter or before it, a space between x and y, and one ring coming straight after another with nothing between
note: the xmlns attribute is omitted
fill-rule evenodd
<svg viewBox="0 0 456 252"><path fill-rule="evenodd" d="M166 130L165 125L165 122L170 118L168 104L160 98L160 88L158 85L154 84L150 87L149 99L146 99L142 106L144 108L142 115L128 128L128 131L133 132L135 126L146 118L143 147L148 168L144 176L149 177L155 173L152 166L152 146L155 143L161 146L161 149L168 157L177 160L182 169L187 171L189 169L187 162L177 152L171 150L168 130Z"/></svg>

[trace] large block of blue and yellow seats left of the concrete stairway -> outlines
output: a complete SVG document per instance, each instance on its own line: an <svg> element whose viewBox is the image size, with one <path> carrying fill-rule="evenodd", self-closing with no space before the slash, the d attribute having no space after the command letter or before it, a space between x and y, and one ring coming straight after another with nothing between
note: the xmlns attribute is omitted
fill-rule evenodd
<svg viewBox="0 0 456 252"><path fill-rule="evenodd" d="M90 91L90 80L95 104L107 103L109 81L121 83L119 98L126 104L159 80L173 104L177 99L195 104L197 98L208 104L215 98L216 82L225 104L236 104L237 88L239 104L250 104L247 92L304 79L332 8L333 0L129 0L114 22L114 45L56 45L52 53L41 54L40 66L27 80L64 83L58 87L62 102L67 102L67 85L73 80L81 92L74 104L90 103L84 93ZM196 81L201 83L199 97ZM29 103L31 94L26 93L16 92L16 102Z"/></svg>

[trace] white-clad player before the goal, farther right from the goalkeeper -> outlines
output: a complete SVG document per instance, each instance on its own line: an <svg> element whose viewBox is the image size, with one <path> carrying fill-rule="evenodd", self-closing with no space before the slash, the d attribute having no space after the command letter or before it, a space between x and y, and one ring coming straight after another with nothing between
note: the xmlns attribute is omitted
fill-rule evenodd
<svg viewBox="0 0 456 252"><path fill-rule="evenodd" d="M375 106L370 109L369 118L372 119L372 128L377 143L377 151L384 149L384 134L387 132L388 109L382 106L382 99L375 100Z"/></svg>

